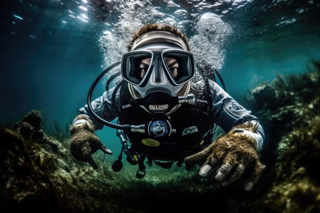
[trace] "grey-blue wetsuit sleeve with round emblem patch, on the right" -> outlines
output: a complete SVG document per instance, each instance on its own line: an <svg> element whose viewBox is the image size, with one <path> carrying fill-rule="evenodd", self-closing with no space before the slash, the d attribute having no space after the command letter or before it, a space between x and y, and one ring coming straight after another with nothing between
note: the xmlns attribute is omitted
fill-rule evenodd
<svg viewBox="0 0 320 213"><path fill-rule="evenodd" d="M251 111L246 110L238 104L228 93L226 93L217 83L210 82L210 89L213 94L213 114L215 122L225 132L230 131L234 126L243 123L253 123L256 125L258 119ZM241 130L238 130L241 131ZM244 134L254 137L257 140L258 151L262 149L264 131L259 124L256 132L242 131Z"/></svg>

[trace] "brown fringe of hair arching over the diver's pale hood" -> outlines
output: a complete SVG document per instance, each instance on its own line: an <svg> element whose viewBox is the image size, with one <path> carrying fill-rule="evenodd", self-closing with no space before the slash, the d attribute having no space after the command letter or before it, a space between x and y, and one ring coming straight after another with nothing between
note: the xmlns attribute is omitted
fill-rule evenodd
<svg viewBox="0 0 320 213"><path fill-rule="evenodd" d="M149 31L153 31L153 30L167 30L167 31L170 31L171 33L176 34L177 36L182 38L182 40L184 40L184 42L187 44L188 51L190 51L187 35L182 33L176 26L165 25L163 23L147 23L146 25L142 26L138 31L136 31L136 33L133 34L133 38L130 44L128 45L128 50L130 51L131 45L133 41L135 41L135 39L137 39L142 34L147 33Z"/></svg>

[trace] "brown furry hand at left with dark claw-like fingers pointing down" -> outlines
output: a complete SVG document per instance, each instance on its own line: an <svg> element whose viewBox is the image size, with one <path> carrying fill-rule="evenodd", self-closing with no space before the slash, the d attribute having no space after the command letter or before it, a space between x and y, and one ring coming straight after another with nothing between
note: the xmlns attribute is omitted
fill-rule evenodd
<svg viewBox="0 0 320 213"><path fill-rule="evenodd" d="M97 152L98 149L109 155L112 152L94 134L94 125L86 115L78 115L76 119L84 119L87 122L70 127L71 154L79 161L88 162L96 170L98 166L93 160L92 154Z"/></svg>

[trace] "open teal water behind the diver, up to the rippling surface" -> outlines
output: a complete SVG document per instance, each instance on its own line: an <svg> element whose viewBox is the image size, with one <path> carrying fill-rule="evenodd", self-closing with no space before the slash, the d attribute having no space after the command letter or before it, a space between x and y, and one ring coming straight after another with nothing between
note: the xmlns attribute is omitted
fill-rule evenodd
<svg viewBox="0 0 320 213"><path fill-rule="evenodd" d="M1 123L32 109L48 123L70 123L94 79L147 22L186 32L196 60L218 68L236 99L320 60L318 1L6 0L1 14ZM102 92L103 84L95 96ZM115 130L98 135L118 153Z"/></svg>

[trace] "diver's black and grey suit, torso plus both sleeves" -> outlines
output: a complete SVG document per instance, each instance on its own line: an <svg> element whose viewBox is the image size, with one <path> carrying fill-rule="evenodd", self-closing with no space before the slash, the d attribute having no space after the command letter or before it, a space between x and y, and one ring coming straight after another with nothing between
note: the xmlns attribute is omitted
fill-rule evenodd
<svg viewBox="0 0 320 213"><path fill-rule="evenodd" d="M181 105L176 111L165 116L165 119L170 120L172 129L175 129L175 133L170 136L155 137L125 132L132 149L138 150L149 159L180 160L212 143L216 125L228 132L238 124L258 122L251 111L239 105L217 83L211 80L208 83L207 88L210 88L210 91L204 89L203 92L197 92L195 104ZM113 96L112 100L113 90L115 87L105 91L101 97L92 102L94 111L104 120L112 121L118 117L120 124L141 125L154 119L154 115L140 106L130 106L132 97L126 82L116 91L116 96ZM96 130L102 129L103 125L90 115L87 105L81 108L79 113L88 115L94 122ZM256 138L260 151L264 138L261 125L250 136Z"/></svg>

